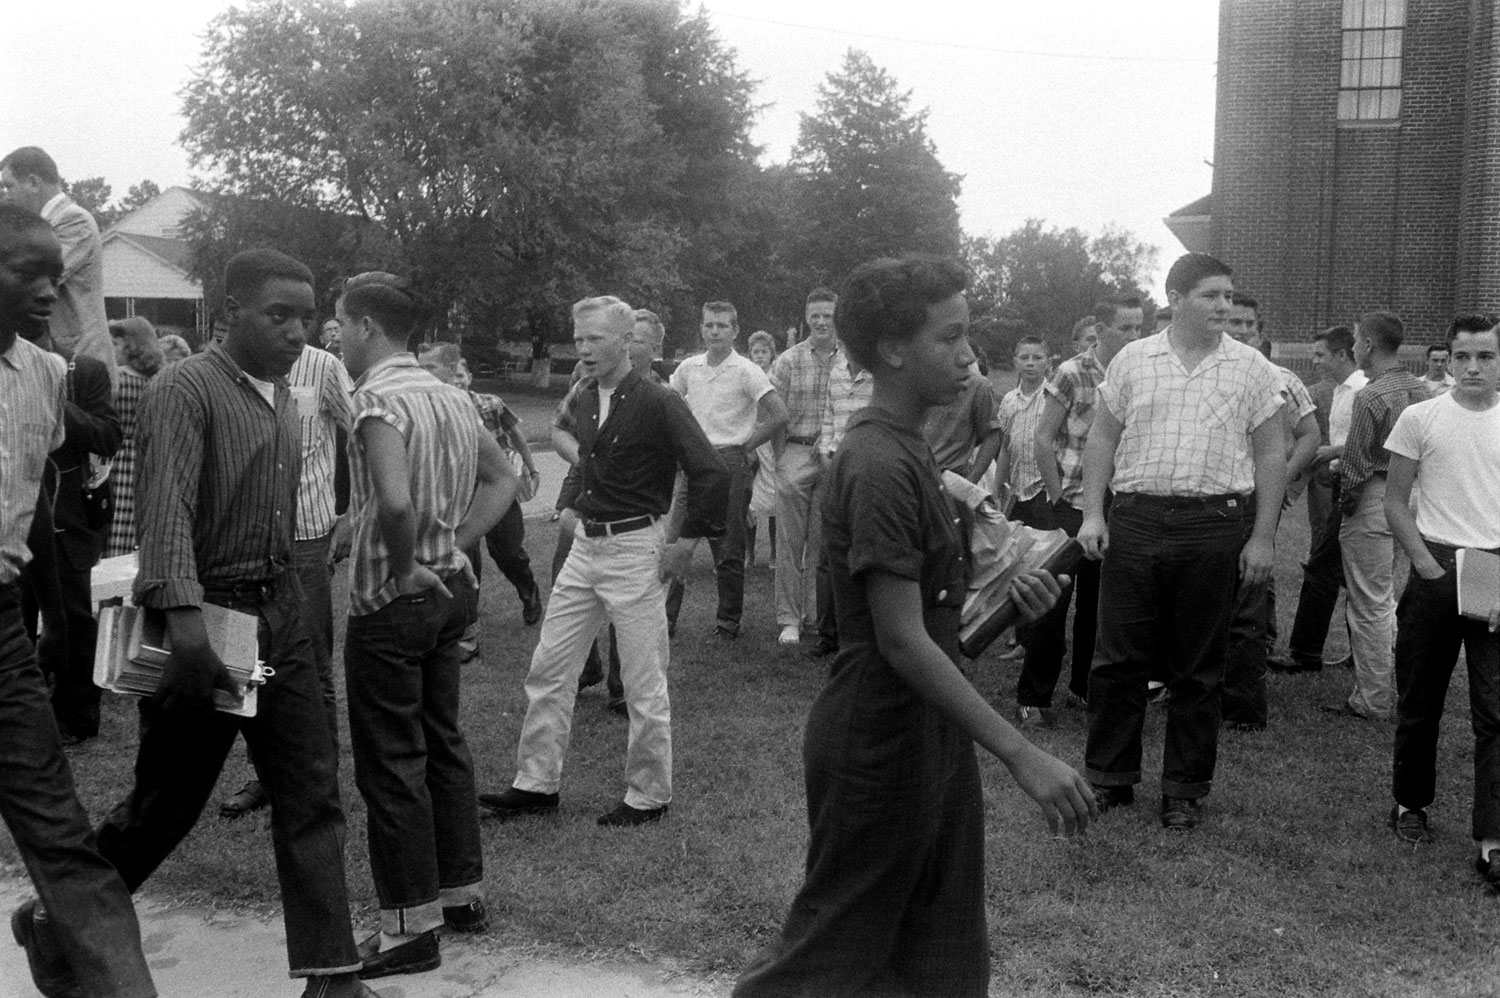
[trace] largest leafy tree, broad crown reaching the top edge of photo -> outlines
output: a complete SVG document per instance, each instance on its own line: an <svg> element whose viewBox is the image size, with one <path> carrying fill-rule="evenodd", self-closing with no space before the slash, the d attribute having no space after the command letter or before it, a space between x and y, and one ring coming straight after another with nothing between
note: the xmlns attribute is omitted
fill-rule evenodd
<svg viewBox="0 0 1500 998"><path fill-rule="evenodd" d="M676 2L250 0L208 26L183 144L226 194L381 227L495 332L730 270L705 248L750 90Z"/></svg>

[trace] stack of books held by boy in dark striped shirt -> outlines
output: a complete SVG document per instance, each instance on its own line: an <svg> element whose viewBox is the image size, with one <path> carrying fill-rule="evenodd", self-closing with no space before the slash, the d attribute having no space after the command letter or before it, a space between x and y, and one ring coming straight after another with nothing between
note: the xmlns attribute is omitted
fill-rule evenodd
<svg viewBox="0 0 1500 998"><path fill-rule="evenodd" d="M208 633L208 644L238 689L238 695L214 690L214 708L226 714L254 717L255 692L274 674L258 657L260 620L204 603L202 624ZM129 696L152 696L160 686L171 650L166 615L162 611L142 606L104 606L99 611L99 638L94 645L94 686Z"/></svg>

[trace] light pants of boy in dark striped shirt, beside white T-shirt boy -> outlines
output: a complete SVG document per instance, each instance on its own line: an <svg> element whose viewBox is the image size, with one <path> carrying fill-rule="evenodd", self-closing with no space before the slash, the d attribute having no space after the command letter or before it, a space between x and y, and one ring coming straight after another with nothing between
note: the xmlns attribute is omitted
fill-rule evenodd
<svg viewBox="0 0 1500 998"><path fill-rule="evenodd" d="M1348 650L1354 656L1354 692L1348 705L1366 717L1389 717L1395 707L1396 596L1395 542L1386 522L1386 480L1372 477L1359 491L1354 512L1338 530L1348 587Z"/></svg>

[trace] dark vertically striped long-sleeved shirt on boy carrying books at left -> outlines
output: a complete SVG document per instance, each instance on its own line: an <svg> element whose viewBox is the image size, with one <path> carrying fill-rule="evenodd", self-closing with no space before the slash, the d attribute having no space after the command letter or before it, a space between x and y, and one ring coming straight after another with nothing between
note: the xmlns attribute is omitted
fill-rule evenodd
<svg viewBox="0 0 1500 998"><path fill-rule="evenodd" d="M202 603L204 587L262 584L291 564L302 468L285 378L267 404L224 347L166 365L135 425L135 602Z"/></svg>

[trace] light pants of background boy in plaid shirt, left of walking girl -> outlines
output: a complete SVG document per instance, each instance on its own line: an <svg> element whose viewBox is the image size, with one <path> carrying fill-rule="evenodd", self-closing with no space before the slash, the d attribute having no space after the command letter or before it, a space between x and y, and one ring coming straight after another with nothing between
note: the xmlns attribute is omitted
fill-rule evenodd
<svg viewBox="0 0 1500 998"><path fill-rule="evenodd" d="M776 623L812 626L824 546L818 455L804 444L786 444L776 471Z"/></svg>

